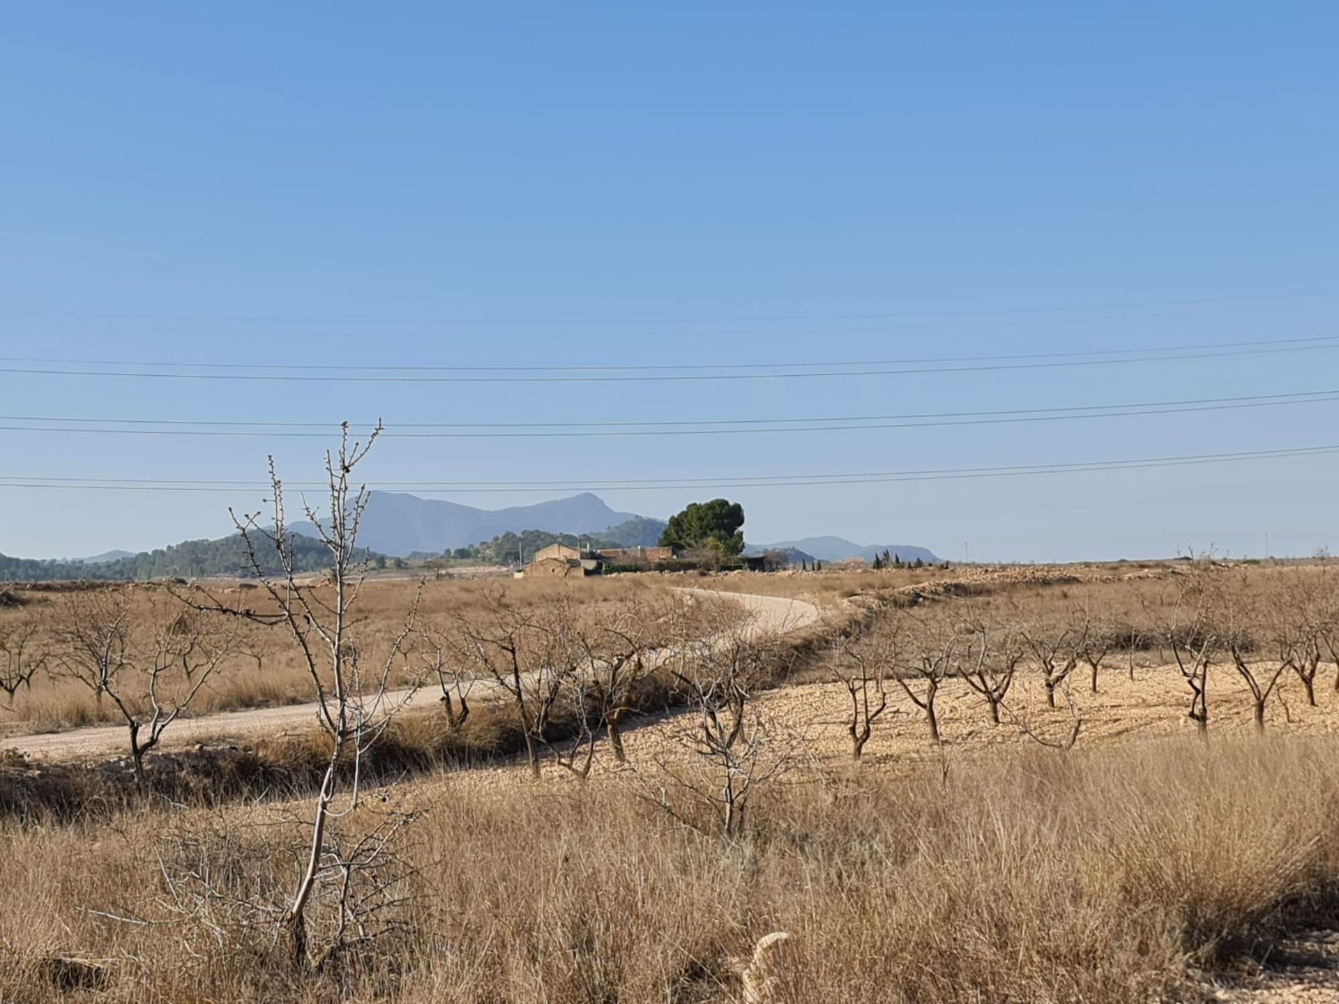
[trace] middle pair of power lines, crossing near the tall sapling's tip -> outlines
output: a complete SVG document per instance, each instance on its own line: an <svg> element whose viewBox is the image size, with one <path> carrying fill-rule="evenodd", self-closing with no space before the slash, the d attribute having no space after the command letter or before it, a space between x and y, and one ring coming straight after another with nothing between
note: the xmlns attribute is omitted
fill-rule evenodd
<svg viewBox="0 0 1339 1004"><path fill-rule="evenodd" d="M1065 408L1018 408L998 411L945 411L907 415L850 415L836 418L794 419L684 419L678 422L554 422L554 423L404 423L383 432L399 439L546 439L595 436L690 436L749 435L777 432L848 432L886 428L936 428L944 426L988 426L1077 419L1127 418L1139 415L1180 415L1206 411L1324 404L1339 400L1339 390L1300 391L1296 394L1245 395L1235 398L1192 398L1184 400L1142 402L1133 404L1091 404ZM205 422L193 419L80 419L0 415L0 422L84 423L72 424L0 424L0 432L63 432L83 435L165 435L325 439L333 435L335 423L316 422ZM358 427L358 423L353 423ZM371 427L374 423L363 423ZM110 426L133 426L115 428ZM149 426L167 426L155 428ZM325 431L295 431L323 428ZM454 431L398 431L454 430ZM466 431L461 431L466 430ZM487 430L487 431L479 431Z"/></svg>

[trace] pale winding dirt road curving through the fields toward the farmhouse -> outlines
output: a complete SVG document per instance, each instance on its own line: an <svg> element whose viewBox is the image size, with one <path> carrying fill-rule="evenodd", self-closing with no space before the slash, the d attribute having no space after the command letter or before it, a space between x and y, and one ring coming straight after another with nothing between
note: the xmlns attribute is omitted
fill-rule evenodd
<svg viewBox="0 0 1339 1004"><path fill-rule="evenodd" d="M683 589L687 594L711 596L730 600L744 606L750 617L744 631L757 637L761 635L783 635L814 624L818 608L803 600L778 596L755 596L753 593L726 593L707 589ZM490 692L491 691L491 692ZM497 684L486 685L478 681L470 695L471 700L487 700L497 695ZM422 688L418 692L399 691L388 695L388 707L432 707L441 699L437 689ZM245 736L256 734L281 735L305 730L316 724L319 704L288 704L277 708L248 708L228 711L202 718L178 719L163 732L165 748L181 747L217 736ZM16 750L27 756L52 760L80 759L116 754L126 750L125 726L96 726L75 728L67 732L46 732L16 735L0 740L0 750Z"/></svg>

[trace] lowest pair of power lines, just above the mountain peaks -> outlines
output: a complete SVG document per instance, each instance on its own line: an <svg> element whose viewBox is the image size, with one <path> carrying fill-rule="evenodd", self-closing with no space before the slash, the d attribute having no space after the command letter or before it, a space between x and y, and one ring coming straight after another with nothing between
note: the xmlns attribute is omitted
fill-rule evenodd
<svg viewBox="0 0 1339 1004"><path fill-rule="evenodd" d="M1188 467L1212 463L1233 463L1267 461L1289 456L1320 456L1339 452L1335 446L1288 447L1283 450L1252 450L1244 452L1189 454L1181 456L1153 456L1125 461L1085 461L1069 463L1018 465L1004 467L941 467L911 471L864 471L848 474L778 474L757 477L726 475L723 478L676 478L676 479L608 479L608 481L530 481L530 482L399 482L374 485L379 491L419 491L424 494L461 493L560 493L560 491L655 491L671 489L759 489L759 487L807 487L823 485L882 485L916 481L960 481L975 478L1020 478L1050 474L1087 474L1097 471L1122 471L1154 467ZM325 487L323 482L284 482L288 489ZM246 490L268 490L266 482L245 481L153 481L131 478L37 478L20 475L0 475L0 487L15 489L78 489L94 491L212 491L240 493Z"/></svg>

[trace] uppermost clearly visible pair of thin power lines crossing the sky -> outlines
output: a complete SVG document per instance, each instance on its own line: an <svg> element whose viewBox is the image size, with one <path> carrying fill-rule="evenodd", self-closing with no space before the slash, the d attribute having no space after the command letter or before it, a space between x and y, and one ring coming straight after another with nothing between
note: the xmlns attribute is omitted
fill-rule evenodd
<svg viewBox="0 0 1339 1004"><path fill-rule="evenodd" d="M896 360L872 361L868 364L858 365L896 365L898 368L873 368L873 369L811 369L807 372L765 372L746 371L746 372L699 372L698 367L684 365L674 367L676 369L692 371L692 372L620 372L617 375L599 376L592 375L592 372L582 372L581 375L545 375L545 376L443 376L443 375L423 375L426 372L441 373L443 369L450 372L462 372L461 368L450 367L422 367L422 365L404 365L404 367L391 367L396 375L363 375L366 369L371 367L337 367L339 369L351 369L359 372L341 372L341 373L276 373L276 372L157 372L147 369L137 371L115 371L115 369L54 369L54 368L25 368L25 367L3 367L0 373L24 375L24 376L103 376L103 378L133 378L133 379L158 379L158 380L253 380L253 382L296 382L296 383L623 383L623 382L700 382L700 380L793 380L793 379L822 379L822 378L842 378L842 376L905 376L905 375L923 375L923 373L960 373L960 372L988 372L988 371L1018 371L1018 369L1055 369L1055 368L1069 368L1069 367L1091 367L1091 365L1113 365L1113 364L1134 364L1134 363L1174 363L1174 361L1188 361L1188 360L1202 360L1202 359L1220 359L1232 356L1260 356L1260 355L1277 355L1277 353L1292 353L1292 352L1311 352L1318 349L1332 349L1339 348L1339 335L1324 336L1319 339L1281 339L1279 341L1260 341L1260 343L1241 343L1241 344L1256 344L1268 345L1267 348L1231 348L1233 343L1220 343L1217 347L1210 347L1213 349L1221 351L1186 351L1184 348L1166 348L1166 349L1146 349L1144 355L1123 356L1123 357L1101 357L1101 359L1071 359L1071 357L1058 357L1058 356L1044 356L1052 361L1035 361L1036 357L1024 356L1022 359L1027 361L986 361L992 357L981 356L961 356L956 359L948 359L943 361L952 363L952 365L923 365L920 360L909 360L907 363L900 363ZM1157 353L1157 355L1153 355ZM1011 359L1011 357L995 357L995 359ZM932 360L927 360L932 361ZM96 365L96 363L90 361L72 361L72 365ZM230 369L233 363L191 363L191 364L155 364L155 363L107 363L104 365L190 365L195 369ZM749 364L739 364L740 368ZM759 364L754 364L755 367ZM761 364L766 365L766 364ZM845 363L809 363L809 364L773 364L773 365L811 365L811 367L850 367L853 364ZM248 367L260 368L260 367ZM316 367L285 367L291 369L312 369ZM599 369L593 367L592 371ZM631 368L629 368L631 369ZM489 369L489 372L494 372ZM414 375L406 375L414 373Z"/></svg>

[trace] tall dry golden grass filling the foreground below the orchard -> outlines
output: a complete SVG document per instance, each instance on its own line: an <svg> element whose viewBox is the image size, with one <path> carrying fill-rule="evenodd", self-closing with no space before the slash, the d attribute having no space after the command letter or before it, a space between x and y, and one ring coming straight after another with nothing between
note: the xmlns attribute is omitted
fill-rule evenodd
<svg viewBox="0 0 1339 1004"><path fill-rule="evenodd" d="M238 905L292 881L287 807L9 823L0 995L56 997L70 958L104 967L106 1001L723 1001L785 932L785 1001L1193 997L1192 967L1334 916L1336 778L1332 746L1296 738L1015 750L789 775L724 839L617 775L446 775L386 792L422 811L394 937L307 980ZM182 912L174 886L205 867L220 898Z"/></svg>

